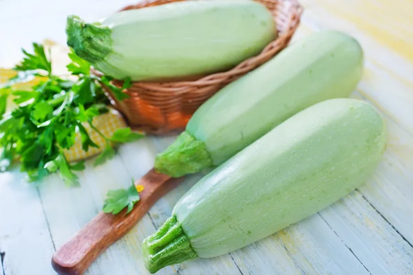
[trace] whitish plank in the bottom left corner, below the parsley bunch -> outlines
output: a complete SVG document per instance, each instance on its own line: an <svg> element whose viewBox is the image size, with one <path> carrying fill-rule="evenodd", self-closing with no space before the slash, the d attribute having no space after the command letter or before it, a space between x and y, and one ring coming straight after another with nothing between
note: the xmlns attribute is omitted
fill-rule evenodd
<svg viewBox="0 0 413 275"><path fill-rule="evenodd" d="M0 173L0 248L4 275L54 274L50 256L54 245L34 184L23 183L17 170Z"/></svg>

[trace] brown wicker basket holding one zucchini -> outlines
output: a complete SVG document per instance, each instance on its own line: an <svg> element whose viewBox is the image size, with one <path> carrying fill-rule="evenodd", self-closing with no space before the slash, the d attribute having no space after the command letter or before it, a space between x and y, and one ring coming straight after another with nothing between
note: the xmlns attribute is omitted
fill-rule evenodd
<svg viewBox="0 0 413 275"><path fill-rule="evenodd" d="M123 10L145 8L183 0L147 0L129 5ZM133 82L124 92L129 98L118 101L105 87L105 93L114 107L125 115L134 129L151 134L163 134L184 129L191 115L222 87L270 60L289 43L301 16L302 8L296 0L256 0L273 12L279 36L258 56L248 58L227 72L211 74L193 81L169 83ZM92 71L94 74L99 72ZM122 87L122 81L114 85Z"/></svg>

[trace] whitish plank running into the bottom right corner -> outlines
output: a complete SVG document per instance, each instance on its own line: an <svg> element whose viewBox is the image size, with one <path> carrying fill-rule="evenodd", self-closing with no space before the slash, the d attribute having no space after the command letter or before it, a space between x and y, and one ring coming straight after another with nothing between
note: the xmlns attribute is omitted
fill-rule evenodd
<svg viewBox="0 0 413 275"><path fill-rule="evenodd" d="M412 246L360 192L352 192L320 215L370 274L413 274Z"/></svg>

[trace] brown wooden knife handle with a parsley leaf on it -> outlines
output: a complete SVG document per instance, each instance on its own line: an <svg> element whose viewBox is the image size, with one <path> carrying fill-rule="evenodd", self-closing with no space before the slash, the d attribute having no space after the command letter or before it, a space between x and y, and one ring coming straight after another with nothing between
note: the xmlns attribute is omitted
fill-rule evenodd
<svg viewBox="0 0 413 275"><path fill-rule="evenodd" d="M136 181L145 187L140 192L140 201L125 216L126 209L119 214L100 212L76 235L57 250L52 266L61 275L80 275L109 245L124 236L149 211L160 197L172 190L182 180L150 170Z"/></svg>

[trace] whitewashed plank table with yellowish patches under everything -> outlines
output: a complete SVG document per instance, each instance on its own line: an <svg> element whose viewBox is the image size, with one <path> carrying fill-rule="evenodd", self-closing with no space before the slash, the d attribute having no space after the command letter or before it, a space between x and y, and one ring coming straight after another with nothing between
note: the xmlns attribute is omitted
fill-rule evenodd
<svg viewBox="0 0 413 275"><path fill-rule="evenodd" d="M53 39L65 43L65 17L95 20L133 0L0 0L0 67L21 58L20 47ZM390 142L368 182L333 206L219 258L167 267L159 274L413 274L413 1L302 0L294 39L324 28L355 36L366 70L354 91L381 110ZM81 187L59 176L38 186L15 170L0 174L0 274L55 274L56 248L92 219L107 190L125 187L153 165L173 137L147 137L118 149L98 168L87 162ZM162 198L123 239L90 267L90 275L147 274L140 246L178 198L201 175Z"/></svg>

